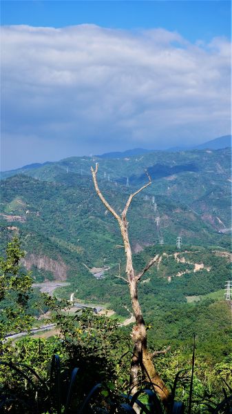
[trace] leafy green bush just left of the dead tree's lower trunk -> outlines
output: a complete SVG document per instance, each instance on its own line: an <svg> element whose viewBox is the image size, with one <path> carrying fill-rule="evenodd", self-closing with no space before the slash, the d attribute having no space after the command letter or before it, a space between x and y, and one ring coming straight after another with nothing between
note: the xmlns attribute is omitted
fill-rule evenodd
<svg viewBox="0 0 232 414"><path fill-rule="evenodd" d="M63 313L54 299L48 299L55 310L52 322L63 338L63 348L72 368L83 371L83 378L120 389L128 380L128 357L122 358L131 348L127 333L118 328L117 319L97 316L89 308L76 313ZM127 368L127 369L125 369Z"/></svg>

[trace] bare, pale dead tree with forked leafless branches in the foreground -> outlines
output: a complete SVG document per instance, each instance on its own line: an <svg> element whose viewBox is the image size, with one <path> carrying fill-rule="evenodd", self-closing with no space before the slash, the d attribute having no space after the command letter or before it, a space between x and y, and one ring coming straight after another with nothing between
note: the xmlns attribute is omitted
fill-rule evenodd
<svg viewBox="0 0 232 414"><path fill-rule="evenodd" d="M131 387L133 387L134 392L136 391L136 387L138 384L138 371L141 368L143 373L145 374L146 379L151 382L156 390L156 393L160 396L163 404L167 406L170 393L165 383L160 378L160 375L156 372L156 368L154 366L154 362L152 357L154 357L154 353L150 353L147 348L147 331L145 327L145 321L143 319L143 314L140 308L140 304L138 302L138 282L140 281L141 277L151 268L151 266L157 262L159 255L153 257L150 262L143 268L143 270L138 273L138 275L134 272L133 262L132 262L132 253L131 253L131 246L129 243L129 235L128 235L128 221L127 221L127 210L131 204L132 199L140 193L140 191L144 190L147 186L151 184L151 178L147 174L149 182L145 184L145 186L141 187L136 193L131 194L125 204L125 208L121 215L118 215L114 208L109 205L106 201L105 197L101 193L98 188L98 182L96 179L96 175L98 172L98 164L96 164L96 168L91 167L92 177L94 180L94 187L98 197L100 197L101 201L103 202L104 206L109 210L110 213L116 218L118 221L120 232L123 237L123 244L125 248L125 256L126 256L126 278L123 278L125 282L127 282L129 287L129 293L131 297L131 305L134 311L134 316L136 318L136 324L134 325L131 333L131 337L134 342L134 352L133 357L131 358Z"/></svg>

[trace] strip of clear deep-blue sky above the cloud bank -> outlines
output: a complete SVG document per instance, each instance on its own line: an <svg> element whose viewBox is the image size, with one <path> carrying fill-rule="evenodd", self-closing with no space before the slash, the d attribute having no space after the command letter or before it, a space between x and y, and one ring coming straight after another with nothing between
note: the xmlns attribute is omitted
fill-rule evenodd
<svg viewBox="0 0 232 414"><path fill-rule="evenodd" d="M230 1L1 1L1 24L176 30L189 41L231 34Z"/></svg>

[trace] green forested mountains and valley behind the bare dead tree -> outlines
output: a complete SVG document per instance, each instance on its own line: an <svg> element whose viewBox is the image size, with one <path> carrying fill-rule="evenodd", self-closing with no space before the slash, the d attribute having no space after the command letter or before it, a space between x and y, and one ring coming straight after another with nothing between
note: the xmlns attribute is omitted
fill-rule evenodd
<svg viewBox="0 0 232 414"><path fill-rule="evenodd" d="M26 252L22 264L32 272L34 286L44 284L45 291L65 299L75 292L80 303L107 304L119 318L133 322L120 278L125 272L120 232L90 175L96 161L99 186L118 213L129 194L145 184L145 168L151 176L151 186L128 212L136 272L160 255L139 284L145 318L154 326L151 342L155 335L156 344L171 341L176 348L189 344L196 331L199 352L220 359L222 349L229 350L231 324L222 290L231 277L229 148L146 152L125 159L73 157L3 173L1 249L19 235ZM213 297L216 292L221 293ZM205 341L215 341L217 326L223 328L218 352L212 354Z"/></svg>

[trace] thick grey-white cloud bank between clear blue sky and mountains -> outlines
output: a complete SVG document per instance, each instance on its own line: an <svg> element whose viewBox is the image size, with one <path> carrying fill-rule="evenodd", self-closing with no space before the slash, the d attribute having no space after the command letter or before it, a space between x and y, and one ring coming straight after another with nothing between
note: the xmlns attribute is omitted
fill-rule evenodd
<svg viewBox="0 0 232 414"><path fill-rule="evenodd" d="M2 170L230 132L225 38L94 25L3 26L1 37Z"/></svg>

